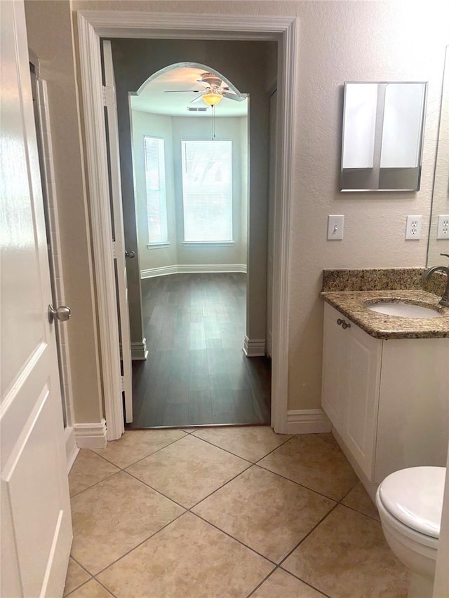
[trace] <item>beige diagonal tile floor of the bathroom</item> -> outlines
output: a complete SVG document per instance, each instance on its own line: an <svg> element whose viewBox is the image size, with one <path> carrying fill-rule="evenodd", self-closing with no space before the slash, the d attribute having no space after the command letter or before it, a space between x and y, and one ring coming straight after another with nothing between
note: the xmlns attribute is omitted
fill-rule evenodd
<svg viewBox="0 0 449 598"><path fill-rule="evenodd" d="M71 598L401 598L408 575L330 434L131 430L69 475Z"/></svg>

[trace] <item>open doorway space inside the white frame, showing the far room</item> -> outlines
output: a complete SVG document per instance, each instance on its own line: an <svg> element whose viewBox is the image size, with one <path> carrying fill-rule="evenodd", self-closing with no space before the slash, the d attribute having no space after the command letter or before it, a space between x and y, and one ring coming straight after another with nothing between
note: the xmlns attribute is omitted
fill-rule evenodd
<svg viewBox="0 0 449 598"><path fill-rule="evenodd" d="M136 256L133 265L128 261L131 341L133 346L143 345L145 338L148 351L145 363L134 361L132 426L269 423L270 362L264 359L269 200L266 81L276 79L272 67L276 45L207 41L199 49L191 40L112 39L103 43L112 48L119 130L123 133L128 123L132 130L132 139L128 135L120 138L126 247ZM210 62L165 64L166 55L169 60L180 60L194 52L203 53ZM213 69L213 60L227 67L226 78ZM234 86L234 76L240 77L243 88ZM213 107L201 95L210 90L216 91L213 99L220 100ZM248 176L248 170L255 174ZM170 285L165 281L159 287L166 292L149 296L156 281L148 278L173 278L175 273L175 286L181 292L168 292ZM189 277L194 273L211 276ZM223 273L240 276L228 276L220 284ZM240 283L244 285L246 279L248 288L242 294ZM142 287L145 292L136 296ZM221 301L220 318L217 308L207 304L208 287L213 287L217 306L221 299L217 290L222 288L222 297L229 298L229 306ZM155 297L175 298L175 311L169 313L168 306L157 304ZM236 297L239 309L243 299L243 321L229 318ZM198 311L201 299L203 316ZM166 317L159 318L161 313ZM182 325L174 332L170 322L176 315ZM187 323L186 316L190 318ZM236 346L229 345L229 332L236 337ZM230 355L225 360L222 353L229 349L236 353L238 364ZM184 374L175 365L181 361ZM197 388L194 370L200 363L203 386ZM234 367L240 380L231 383ZM170 376L178 379L182 392L175 392L177 385L170 383ZM203 414L195 407L196 390L213 397L203 397ZM130 421L128 414L126 421Z"/></svg>

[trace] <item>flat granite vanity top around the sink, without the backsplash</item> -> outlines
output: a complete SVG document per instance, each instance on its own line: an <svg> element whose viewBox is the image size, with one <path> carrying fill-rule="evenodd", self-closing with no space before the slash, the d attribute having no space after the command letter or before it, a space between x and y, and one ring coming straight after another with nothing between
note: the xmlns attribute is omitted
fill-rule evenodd
<svg viewBox="0 0 449 598"><path fill-rule="evenodd" d="M449 338L449 308L438 304L441 296L421 289L413 290L342 290L321 292L321 297L348 320L376 339ZM401 318L366 308L366 303L382 299L406 301L431 307L443 314L441 318ZM377 300L377 301L376 301Z"/></svg>

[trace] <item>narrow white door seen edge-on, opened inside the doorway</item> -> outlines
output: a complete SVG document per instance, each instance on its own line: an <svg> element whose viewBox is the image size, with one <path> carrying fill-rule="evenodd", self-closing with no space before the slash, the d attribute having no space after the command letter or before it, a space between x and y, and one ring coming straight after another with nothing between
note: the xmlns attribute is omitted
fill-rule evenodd
<svg viewBox="0 0 449 598"><path fill-rule="evenodd" d="M121 179L119 158L119 126L115 95L114 65L111 42L103 41L103 62L105 66L105 106L107 114L107 141L109 144L109 180L111 182L112 212L114 224L114 260L116 266L117 299L119 302L119 327L121 341L121 362L123 368L123 393L125 395L126 423L133 421L133 379L131 368L131 340L129 332L128 285L126 282L126 247L123 232L121 203ZM134 257L133 252L128 253Z"/></svg>

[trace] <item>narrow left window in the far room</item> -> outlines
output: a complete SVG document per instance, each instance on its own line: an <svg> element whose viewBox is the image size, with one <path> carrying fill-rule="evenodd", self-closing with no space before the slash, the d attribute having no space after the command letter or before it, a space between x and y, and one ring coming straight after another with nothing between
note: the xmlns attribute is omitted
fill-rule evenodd
<svg viewBox="0 0 449 598"><path fill-rule="evenodd" d="M144 137L149 245L168 242L163 139Z"/></svg>

